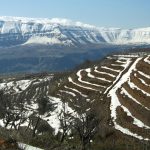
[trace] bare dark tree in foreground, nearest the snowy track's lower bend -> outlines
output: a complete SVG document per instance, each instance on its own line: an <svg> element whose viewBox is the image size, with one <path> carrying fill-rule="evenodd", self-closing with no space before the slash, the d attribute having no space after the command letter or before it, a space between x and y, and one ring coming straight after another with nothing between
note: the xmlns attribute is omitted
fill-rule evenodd
<svg viewBox="0 0 150 150"><path fill-rule="evenodd" d="M79 136L81 149L88 150L91 142L99 129L100 114L97 113L94 104L91 104L83 97L77 100L78 115L73 116L73 126Z"/></svg>

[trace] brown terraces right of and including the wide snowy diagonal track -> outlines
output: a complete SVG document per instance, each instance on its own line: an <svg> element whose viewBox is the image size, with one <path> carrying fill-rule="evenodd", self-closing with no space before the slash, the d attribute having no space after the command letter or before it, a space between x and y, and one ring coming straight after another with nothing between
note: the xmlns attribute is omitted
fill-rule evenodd
<svg viewBox="0 0 150 150"><path fill-rule="evenodd" d="M132 61L108 92L114 127L140 140L150 138L150 78L145 80L150 76L148 59L149 56L137 57Z"/></svg>

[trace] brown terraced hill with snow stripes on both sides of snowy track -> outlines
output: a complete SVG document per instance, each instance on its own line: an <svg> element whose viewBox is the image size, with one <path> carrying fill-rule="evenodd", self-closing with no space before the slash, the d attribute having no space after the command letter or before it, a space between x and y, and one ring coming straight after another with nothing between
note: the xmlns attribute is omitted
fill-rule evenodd
<svg viewBox="0 0 150 150"><path fill-rule="evenodd" d="M108 100L115 129L140 140L149 140L149 70L150 56L114 55L104 64L81 69L69 76L68 82L55 91L55 96L61 98L65 93L71 102L76 101L78 95L85 97L87 103Z"/></svg>

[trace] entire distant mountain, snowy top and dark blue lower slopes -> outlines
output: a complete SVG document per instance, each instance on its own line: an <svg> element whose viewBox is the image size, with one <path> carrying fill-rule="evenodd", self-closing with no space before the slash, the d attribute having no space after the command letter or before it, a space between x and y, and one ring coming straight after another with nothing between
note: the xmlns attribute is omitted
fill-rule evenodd
<svg viewBox="0 0 150 150"><path fill-rule="evenodd" d="M150 44L150 28L96 27L67 19L0 17L0 73L64 71Z"/></svg>

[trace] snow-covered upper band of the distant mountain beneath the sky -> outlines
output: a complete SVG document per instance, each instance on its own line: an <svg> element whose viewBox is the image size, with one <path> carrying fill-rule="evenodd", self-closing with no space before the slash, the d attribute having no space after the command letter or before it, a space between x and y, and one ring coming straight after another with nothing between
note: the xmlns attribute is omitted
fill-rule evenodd
<svg viewBox="0 0 150 150"><path fill-rule="evenodd" d="M0 46L150 44L150 28L100 28L67 19L0 17Z"/></svg>

